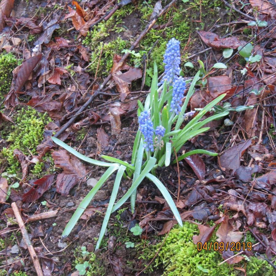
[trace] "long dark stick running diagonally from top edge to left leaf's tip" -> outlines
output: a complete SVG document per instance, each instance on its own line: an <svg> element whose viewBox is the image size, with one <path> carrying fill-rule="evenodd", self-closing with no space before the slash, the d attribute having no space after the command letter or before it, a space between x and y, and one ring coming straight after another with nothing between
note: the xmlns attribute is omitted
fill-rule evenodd
<svg viewBox="0 0 276 276"><path fill-rule="evenodd" d="M175 2L176 2L176 0L172 0L167 6L165 6L157 14L156 17L154 17L154 19L147 25L147 27L144 29L144 31L140 34L140 36L136 39L136 41L129 48L130 51L132 51L133 49L135 49L135 47L139 44L139 42L143 39L143 37L148 33L148 31L155 24L155 22L157 21L158 17L160 17L165 11L167 11ZM126 59L129 56L129 53L130 53L129 51L127 53L125 53L125 55L119 61L117 68L113 69L113 72L116 72L116 71L120 70L123 67L123 65L126 62ZM112 74L109 74L108 77L106 77L106 79L100 85L100 87L95 91L95 93L92 94L90 96L90 98L87 100L87 102L84 105L82 105L82 107L78 110L78 112L66 124L64 124L59 129L59 131L56 132L56 134L54 135L54 137L59 137L60 134L62 134L68 127L70 127L75 122L75 120L79 116L79 114L82 113L82 111L84 111L86 109L86 107L91 104L91 102L93 102L94 98L96 98L101 93L102 89L105 87L105 85L109 82L109 80L111 78L112 78Z"/></svg>

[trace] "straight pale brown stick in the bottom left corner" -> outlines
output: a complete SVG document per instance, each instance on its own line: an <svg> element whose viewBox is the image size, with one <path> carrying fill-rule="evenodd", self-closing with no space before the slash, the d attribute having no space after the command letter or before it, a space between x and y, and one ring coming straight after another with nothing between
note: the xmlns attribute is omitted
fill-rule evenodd
<svg viewBox="0 0 276 276"><path fill-rule="evenodd" d="M36 270L36 275L43 276L43 272L41 270L39 260L37 259L36 251L33 249L32 242L31 242L31 240L29 238L28 232L27 232L27 230L25 228L24 222L22 220L21 214L20 214L20 212L18 210L18 207L17 207L16 203L13 202L11 204L11 207L13 209L14 216L15 216L15 218L16 218L16 220L18 222L18 225L20 227L23 240L27 244L30 256L31 256L32 261L33 261L34 268Z"/></svg>

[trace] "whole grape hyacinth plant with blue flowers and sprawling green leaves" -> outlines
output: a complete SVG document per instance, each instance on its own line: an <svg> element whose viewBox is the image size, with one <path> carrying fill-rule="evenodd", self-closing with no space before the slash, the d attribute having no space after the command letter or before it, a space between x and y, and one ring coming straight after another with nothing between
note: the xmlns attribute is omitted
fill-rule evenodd
<svg viewBox="0 0 276 276"><path fill-rule="evenodd" d="M164 64L165 73L161 82L158 83L158 72L155 64L150 92L144 104L138 100L137 113L139 129L133 144L131 163L106 155L102 155L101 157L107 162L94 160L80 154L59 139L52 137L56 144L71 152L79 159L96 166L107 167L107 170L98 180L97 184L90 190L76 209L62 233L63 237L70 234L94 195L105 181L116 171L117 174L112 194L102 223L102 229L99 234L96 249L101 245L112 212L120 208L129 198L131 210L134 212L136 190L145 178L156 185L157 189L159 189L170 206L178 224L182 226L182 220L174 200L167 188L156 176L156 168L169 166L170 164L176 163L177 160L180 161L193 154L216 156L217 153L203 149L188 151L178 157L175 156L174 152L178 153L180 148L189 139L207 131L209 127L204 127L205 124L220 117L224 117L228 115L229 112L222 111L220 113L213 113L213 115L201 120L207 112L213 110L213 107L225 97L225 94L214 99L200 111L186 112L188 102L195 91L195 84L200 80L200 72L197 72L194 76L194 79L190 83L189 90L186 93L186 86L190 81L186 81L183 77L179 76L180 43L174 38L167 44L167 50L164 54ZM184 94L186 94L185 100ZM189 117L191 117L191 120L186 123ZM115 202L122 177L132 179L132 185L127 192Z"/></svg>

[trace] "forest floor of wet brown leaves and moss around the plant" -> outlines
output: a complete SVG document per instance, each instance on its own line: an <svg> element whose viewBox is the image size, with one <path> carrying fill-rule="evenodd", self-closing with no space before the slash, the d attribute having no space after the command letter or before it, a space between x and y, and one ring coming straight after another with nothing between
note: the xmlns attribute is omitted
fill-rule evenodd
<svg viewBox="0 0 276 276"><path fill-rule="evenodd" d="M44 275L274 275L275 20L272 0L1 0L0 276L37 275L26 233L14 219L16 206ZM172 37L181 43L185 80L201 71L188 110L226 93L219 108L230 111L176 153L204 149L217 157L191 155L156 170L186 227L196 225L186 240L190 248L211 237L235 243L234 251L215 252L214 267L198 261L188 268L166 257L166 239L179 228L147 180L137 190L133 214L130 202L111 214L100 249L94 251L115 176L62 239L105 171L58 147L51 136L90 158L131 163L137 100L144 102L150 90L154 63L163 73ZM118 198L130 186L123 180ZM134 227L141 229L137 236ZM231 273L216 274L224 260Z"/></svg>

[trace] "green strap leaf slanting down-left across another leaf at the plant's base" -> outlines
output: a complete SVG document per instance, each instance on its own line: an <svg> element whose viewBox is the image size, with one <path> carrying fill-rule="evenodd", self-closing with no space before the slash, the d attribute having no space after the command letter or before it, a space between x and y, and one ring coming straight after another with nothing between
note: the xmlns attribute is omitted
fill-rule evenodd
<svg viewBox="0 0 276 276"><path fill-rule="evenodd" d="M131 187L128 189L128 191L123 195L123 197L113 206L112 212L116 211L118 208L120 208L125 203L125 201L127 201L127 199L137 189L137 187L140 185L140 183L143 181L143 179L146 177L146 175L154 167L155 163L156 163L156 159L154 157L150 157L148 159L148 163L147 163L146 167L144 167L144 170L138 176L136 181L131 185Z"/></svg>

